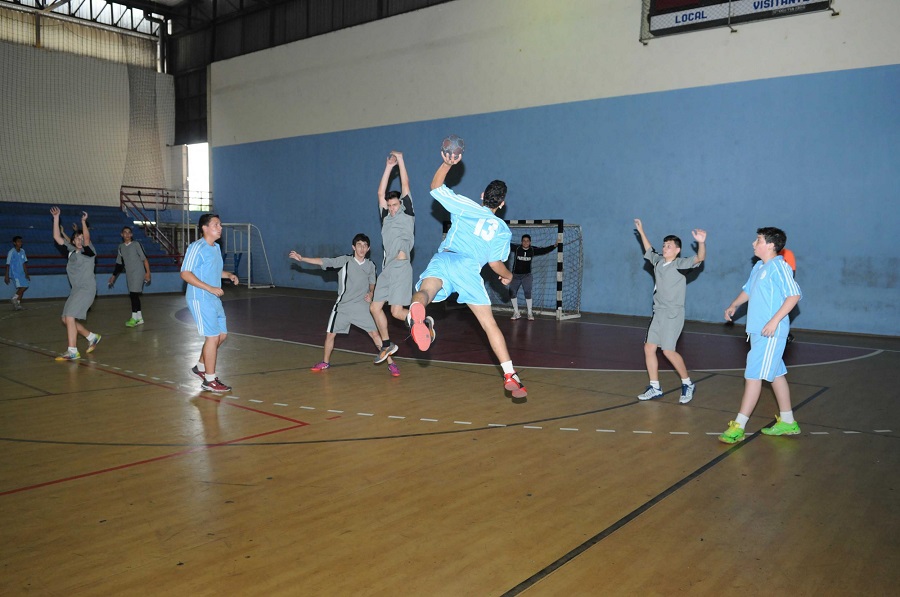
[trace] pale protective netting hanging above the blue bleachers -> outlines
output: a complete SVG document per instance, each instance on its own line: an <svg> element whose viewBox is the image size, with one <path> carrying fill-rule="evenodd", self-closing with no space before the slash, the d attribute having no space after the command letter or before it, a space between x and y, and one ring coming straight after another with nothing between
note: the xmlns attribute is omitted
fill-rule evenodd
<svg viewBox="0 0 900 597"><path fill-rule="evenodd" d="M181 186L153 39L0 9L0 101L2 201L117 205L122 185Z"/></svg>

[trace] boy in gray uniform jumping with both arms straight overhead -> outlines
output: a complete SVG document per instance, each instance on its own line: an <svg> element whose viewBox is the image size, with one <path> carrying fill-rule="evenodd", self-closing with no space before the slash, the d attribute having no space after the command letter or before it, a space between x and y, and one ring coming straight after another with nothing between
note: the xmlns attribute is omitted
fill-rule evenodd
<svg viewBox="0 0 900 597"><path fill-rule="evenodd" d="M391 172L397 166L400 173L400 191L387 191ZM375 363L380 363L397 352L399 348L388 335L387 316L384 303L391 305L391 316L406 321L409 313L407 305L412 298L412 264L410 253L415 244L416 217L413 213L412 197L409 194L409 176L403 154L392 151L384 166L384 174L378 185L378 213L381 217L381 244L384 246L384 262L381 276L375 285L375 295L369 311L381 335L381 350Z"/></svg>

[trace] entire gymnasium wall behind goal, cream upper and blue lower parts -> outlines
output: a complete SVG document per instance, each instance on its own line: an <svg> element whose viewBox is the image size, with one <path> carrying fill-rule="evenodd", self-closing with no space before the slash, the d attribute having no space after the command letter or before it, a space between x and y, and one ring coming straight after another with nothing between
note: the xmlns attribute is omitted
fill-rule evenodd
<svg viewBox="0 0 900 597"><path fill-rule="evenodd" d="M654 243L709 232L687 317L720 321L759 226L785 229L801 328L900 333L900 45L894 0L638 41L640 3L457 0L211 67L213 183L252 221L279 285L333 289L290 249L381 251L375 190L404 151L421 272L443 210L428 195L443 136L466 139L458 192L510 187L505 217L584 232L582 310L649 315L633 218ZM885 207L889 206L889 207Z"/></svg>

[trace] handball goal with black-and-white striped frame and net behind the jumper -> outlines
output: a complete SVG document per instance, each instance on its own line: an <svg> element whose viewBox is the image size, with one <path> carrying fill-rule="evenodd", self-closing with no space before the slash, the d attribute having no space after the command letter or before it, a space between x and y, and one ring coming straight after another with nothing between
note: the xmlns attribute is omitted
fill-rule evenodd
<svg viewBox="0 0 900 597"><path fill-rule="evenodd" d="M580 317L584 265L581 226L566 224L563 220L506 220L506 223L512 231L513 244L521 244L522 235L527 234L531 236L532 247L556 247L547 254L535 255L531 261L534 313L553 315L557 319ZM445 235L449 229L450 222L444 222ZM510 252L507 267L512 267L513 259L514 253ZM486 267L482 276L494 310L512 312L509 289L500 283L490 268ZM524 308L523 289L519 289L516 299Z"/></svg>

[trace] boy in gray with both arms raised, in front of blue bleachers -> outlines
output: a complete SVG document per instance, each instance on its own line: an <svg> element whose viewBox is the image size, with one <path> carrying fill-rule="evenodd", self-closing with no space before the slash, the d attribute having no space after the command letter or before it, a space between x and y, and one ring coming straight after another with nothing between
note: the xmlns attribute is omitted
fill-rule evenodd
<svg viewBox="0 0 900 597"><path fill-rule="evenodd" d="M77 320L87 319L88 309L94 304L97 296L97 279L94 276L94 260L97 252L91 244L91 233L87 226L87 212L81 212L81 229L72 233L72 239L63 238L59 228L59 208L51 207L53 215L53 240L58 245L64 245L68 251L68 263L66 274L69 276L69 284L72 292L63 307L62 322L66 326L69 341L68 350L56 357L57 361L74 361L80 359L77 340L81 334L88 341L87 352L93 352L100 342L100 334L88 331Z"/></svg>

